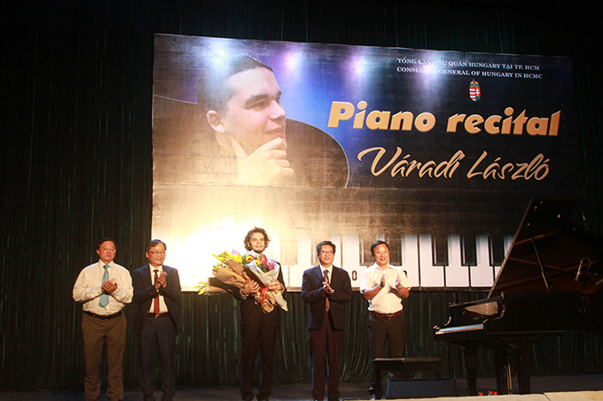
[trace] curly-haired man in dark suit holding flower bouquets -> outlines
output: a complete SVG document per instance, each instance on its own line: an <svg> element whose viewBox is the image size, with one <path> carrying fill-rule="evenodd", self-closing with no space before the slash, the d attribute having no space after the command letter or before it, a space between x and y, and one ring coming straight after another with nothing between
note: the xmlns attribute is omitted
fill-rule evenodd
<svg viewBox="0 0 603 401"><path fill-rule="evenodd" d="M266 230L255 227L245 237L245 249L262 252L270 243ZM286 288L283 280L283 272L278 264L277 280L270 284L271 290L283 291ZM277 343L278 328L280 327L279 307L271 312L264 312L262 306L255 302L254 293L261 290L262 283L255 280L247 280L242 289L233 292L233 296L240 302L240 328L243 339L243 353L241 355L241 398L251 401L254 398L254 365L257 351L261 350L262 371L260 374L260 388L257 393L258 401L268 400L272 391L272 370L274 367L274 348Z"/></svg>

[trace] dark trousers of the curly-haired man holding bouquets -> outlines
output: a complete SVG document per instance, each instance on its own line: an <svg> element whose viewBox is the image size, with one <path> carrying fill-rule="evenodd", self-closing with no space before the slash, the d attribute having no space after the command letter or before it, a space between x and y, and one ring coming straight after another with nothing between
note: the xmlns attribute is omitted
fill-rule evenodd
<svg viewBox="0 0 603 401"><path fill-rule="evenodd" d="M254 366L258 350L261 351L262 371L260 372L260 389L257 393L257 399L264 400L270 397L277 335L278 326L269 326L263 322L241 326L241 337L243 339L241 397L243 399L254 397L252 392L254 389Z"/></svg>

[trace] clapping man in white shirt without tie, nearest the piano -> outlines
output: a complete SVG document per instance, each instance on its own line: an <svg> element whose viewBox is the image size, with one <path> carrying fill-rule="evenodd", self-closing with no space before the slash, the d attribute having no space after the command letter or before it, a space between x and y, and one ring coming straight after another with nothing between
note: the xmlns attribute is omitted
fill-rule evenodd
<svg viewBox="0 0 603 401"><path fill-rule="evenodd" d="M371 342L371 360L376 358L403 358L404 356L404 320L402 316L402 298L410 295L411 282L405 272L389 265L389 245L376 241L371 246L375 264L364 270L360 281L360 292L369 301L369 341ZM380 386L376 387L380 377L375 377L371 364L371 399L379 399Z"/></svg>

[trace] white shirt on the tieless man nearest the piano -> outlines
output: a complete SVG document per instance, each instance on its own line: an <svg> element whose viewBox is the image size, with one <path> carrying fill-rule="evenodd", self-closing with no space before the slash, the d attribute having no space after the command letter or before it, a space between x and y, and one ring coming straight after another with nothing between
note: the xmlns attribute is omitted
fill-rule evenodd
<svg viewBox="0 0 603 401"><path fill-rule="evenodd" d="M398 290L395 289L395 281L400 279L400 284L403 287L411 288L411 281L408 280L402 268L388 265L385 269L381 270L376 263L367 267L362 272L360 279L360 292L379 285L383 274L385 274L385 287L379 291L379 294L369 300L369 311L383 314L400 312L403 307L402 299L396 295L398 294Z"/></svg>

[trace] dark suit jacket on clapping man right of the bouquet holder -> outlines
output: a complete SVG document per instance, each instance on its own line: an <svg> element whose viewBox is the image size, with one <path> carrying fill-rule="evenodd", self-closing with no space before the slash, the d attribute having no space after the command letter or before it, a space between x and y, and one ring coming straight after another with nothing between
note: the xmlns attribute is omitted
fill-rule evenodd
<svg viewBox="0 0 603 401"><path fill-rule="evenodd" d="M334 290L333 294L327 294L323 289L323 275L320 266L309 268L303 272L302 277L302 299L309 304L308 329L317 330L323 326L325 321L326 297L331 303L330 313L333 327L343 330L345 319L343 316L343 304L352 299L352 283L349 274L341 267L332 267L329 285Z"/></svg>

